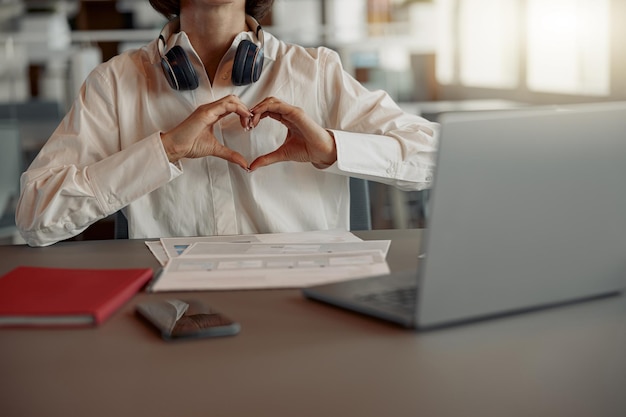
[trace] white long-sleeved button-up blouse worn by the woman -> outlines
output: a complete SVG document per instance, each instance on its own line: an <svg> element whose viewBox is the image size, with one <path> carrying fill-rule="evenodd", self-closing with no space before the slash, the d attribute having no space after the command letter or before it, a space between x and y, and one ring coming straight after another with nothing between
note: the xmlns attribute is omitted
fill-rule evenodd
<svg viewBox="0 0 626 417"><path fill-rule="evenodd" d="M365 89L335 52L287 44L269 33L261 78L234 86L237 45L252 37L237 36L211 84L187 35L170 36L166 50L182 46L199 74L192 91L170 88L156 40L100 64L22 175L16 222L26 242L53 244L122 208L131 238L348 230L349 176L403 190L429 186L437 124L404 113L382 91ZM274 96L304 109L333 132L337 162L325 169L283 162L254 172L216 157L170 164L160 133L228 94L249 107ZM231 115L214 133L252 162L276 149L286 129L267 118L246 131Z"/></svg>

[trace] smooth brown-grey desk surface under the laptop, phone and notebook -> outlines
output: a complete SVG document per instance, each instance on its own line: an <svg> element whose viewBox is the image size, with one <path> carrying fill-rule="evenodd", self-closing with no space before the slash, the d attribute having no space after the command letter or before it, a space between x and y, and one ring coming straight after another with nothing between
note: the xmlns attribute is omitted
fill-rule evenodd
<svg viewBox="0 0 626 417"><path fill-rule="evenodd" d="M357 234L415 266L419 230ZM143 241L0 246L0 273L20 264L158 267ZM194 295L241 333L161 341L133 308L162 293L93 329L0 330L0 415L626 415L625 297L418 333L298 290Z"/></svg>

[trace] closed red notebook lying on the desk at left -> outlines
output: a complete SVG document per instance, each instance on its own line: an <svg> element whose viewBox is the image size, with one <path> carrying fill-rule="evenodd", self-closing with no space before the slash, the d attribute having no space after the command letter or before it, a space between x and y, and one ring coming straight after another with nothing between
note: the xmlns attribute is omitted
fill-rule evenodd
<svg viewBox="0 0 626 417"><path fill-rule="evenodd" d="M152 269L20 266L0 277L0 326L104 322L152 277Z"/></svg>

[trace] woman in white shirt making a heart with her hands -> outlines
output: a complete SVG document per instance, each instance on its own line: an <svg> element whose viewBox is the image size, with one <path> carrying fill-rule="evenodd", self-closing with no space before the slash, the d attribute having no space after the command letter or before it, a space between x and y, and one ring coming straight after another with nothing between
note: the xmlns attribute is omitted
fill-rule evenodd
<svg viewBox="0 0 626 417"><path fill-rule="evenodd" d="M350 176L429 185L437 125L264 33L271 0L150 3L159 39L98 66L23 174L29 245L120 209L131 238L347 230Z"/></svg>

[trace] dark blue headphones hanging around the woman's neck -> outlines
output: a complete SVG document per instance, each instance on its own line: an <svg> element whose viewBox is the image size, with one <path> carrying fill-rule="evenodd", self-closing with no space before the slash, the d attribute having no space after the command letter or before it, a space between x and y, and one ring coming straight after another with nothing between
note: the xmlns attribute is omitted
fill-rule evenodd
<svg viewBox="0 0 626 417"><path fill-rule="evenodd" d="M231 74L234 85L248 85L258 81L263 70L263 47L265 45L263 29L251 16L248 16L247 20L248 24L256 25L255 35L261 42L261 46L257 46L247 39L239 43ZM159 33L158 47L161 55L161 68L163 68L168 83L175 90L198 88L198 75L184 49L180 45L175 45L167 53L164 53L166 44L163 36L164 30L165 27Z"/></svg>

